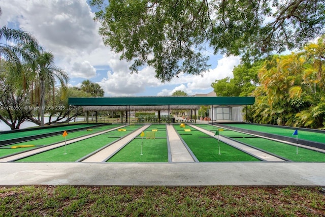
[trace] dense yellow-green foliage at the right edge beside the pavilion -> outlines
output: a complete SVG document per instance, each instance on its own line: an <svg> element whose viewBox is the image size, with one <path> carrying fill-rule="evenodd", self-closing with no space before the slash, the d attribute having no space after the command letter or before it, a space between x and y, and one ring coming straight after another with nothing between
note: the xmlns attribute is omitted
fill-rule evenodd
<svg viewBox="0 0 325 217"><path fill-rule="evenodd" d="M274 55L258 72L251 121L324 129L325 37L289 55Z"/></svg>

